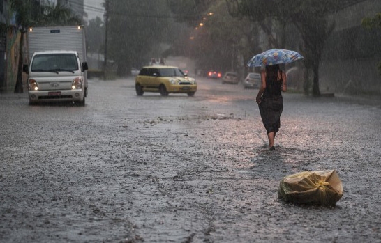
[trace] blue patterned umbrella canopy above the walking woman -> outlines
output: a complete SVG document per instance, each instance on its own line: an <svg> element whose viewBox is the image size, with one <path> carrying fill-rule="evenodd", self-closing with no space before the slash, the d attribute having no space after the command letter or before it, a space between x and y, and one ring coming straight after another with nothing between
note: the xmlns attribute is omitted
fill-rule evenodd
<svg viewBox="0 0 381 243"><path fill-rule="evenodd" d="M248 61L248 66L261 67L266 65L292 63L293 61L300 59L304 59L304 57L295 51L287 49L269 49L266 52L253 56L253 58Z"/></svg>

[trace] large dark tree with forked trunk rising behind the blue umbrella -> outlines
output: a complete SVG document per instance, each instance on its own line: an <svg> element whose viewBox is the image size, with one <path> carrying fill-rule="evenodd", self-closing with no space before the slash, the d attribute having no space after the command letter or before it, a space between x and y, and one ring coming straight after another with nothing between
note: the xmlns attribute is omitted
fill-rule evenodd
<svg viewBox="0 0 381 243"><path fill-rule="evenodd" d="M340 1L331 0L226 0L231 13L236 17L248 16L258 22L269 36L271 47L283 47L273 36L272 22L278 21L283 28L287 24L297 26L304 42L304 57L306 68L313 70L314 97L320 96L319 64L324 44L334 29L334 23L327 19L328 13L334 13L340 6ZM283 47L284 48L284 47ZM308 91L307 91L308 92Z"/></svg>

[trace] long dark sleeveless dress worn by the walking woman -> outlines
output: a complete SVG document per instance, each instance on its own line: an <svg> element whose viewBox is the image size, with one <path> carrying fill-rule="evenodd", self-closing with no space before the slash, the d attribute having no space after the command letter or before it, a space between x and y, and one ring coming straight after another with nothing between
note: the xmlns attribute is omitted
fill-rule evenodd
<svg viewBox="0 0 381 243"><path fill-rule="evenodd" d="M282 79L266 78L266 90L262 95L262 102L260 102L259 108L260 116L267 133L278 132L279 127L281 127L281 114L283 111L281 87Z"/></svg>

